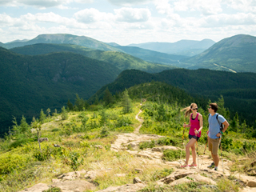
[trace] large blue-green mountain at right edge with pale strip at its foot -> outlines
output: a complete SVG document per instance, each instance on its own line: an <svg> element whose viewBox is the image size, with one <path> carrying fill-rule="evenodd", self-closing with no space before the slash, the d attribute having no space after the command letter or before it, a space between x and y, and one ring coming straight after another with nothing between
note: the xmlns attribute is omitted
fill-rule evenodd
<svg viewBox="0 0 256 192"><path fill-rule="evenodd" d="M192 58L182 62L193 64L191 69L234 70L256 72L256 37L238 34L220 42Z"/></svg>

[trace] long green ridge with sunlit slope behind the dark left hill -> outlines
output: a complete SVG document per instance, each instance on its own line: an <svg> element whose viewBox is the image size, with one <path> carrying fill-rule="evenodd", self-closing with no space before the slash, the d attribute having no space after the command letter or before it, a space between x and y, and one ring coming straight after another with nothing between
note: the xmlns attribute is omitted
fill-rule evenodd
<svg viewBox="0 0 256 192"><path fill-rule="evenodd" d="M18 54L27 55L69 51L76 54L82 54L86 57L94 58L103 62L109 62L114 66L117 66L120 70L136 69L143 70L148 73L157 73L162 70L170 70L175 68L174 66L166 66L146 62L140 58L135 58L130 54L125 54L118 51L92 50L84 46L76 45L35 44L30 46L17 47L11 50Z"/></svg>

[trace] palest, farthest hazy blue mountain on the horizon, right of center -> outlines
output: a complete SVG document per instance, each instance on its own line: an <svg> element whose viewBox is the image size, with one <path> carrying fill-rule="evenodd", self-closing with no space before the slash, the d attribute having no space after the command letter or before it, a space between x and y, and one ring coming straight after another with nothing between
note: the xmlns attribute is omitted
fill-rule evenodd
<svg viewBox="0 0 256 192"><path fill-rule="evenodd" d="M202 53L210 46L214 45L214 41L203 39L202 41L181 40L178 42L146 42L139 44L130 44L128 46L137 46L146 50L154 50L166 54L178 54L188 57Z"/></svg>

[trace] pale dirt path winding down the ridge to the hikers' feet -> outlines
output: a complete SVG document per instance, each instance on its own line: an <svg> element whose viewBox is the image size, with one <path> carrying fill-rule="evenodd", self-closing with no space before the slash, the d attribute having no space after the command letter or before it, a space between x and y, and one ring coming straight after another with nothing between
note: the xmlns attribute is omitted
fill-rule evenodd
<svg viewBox="0 0 256 192"><path fill-rule="evenodd" d="M158 162L163 164L168 164L170 166L174 166L177 169L186 169L186 170L207 170L207 166L209 166L212 162L212 159L210 158L210 155L199 155L197 157L197 163L198 166L196 167L186 167L181 168L181 165L184 164L185 159L179 159L178 161L174 162L166 162L162 160L163 150L180 150L180 148L176 146L158 146L154 147L152 149L144 149L140 150L139 145L141 142L151 142L151 140L158 140L158 138L161 138L162 136L156 135L156 134L139 134L139 129L142 126L143 120L139 118L139 114L142 113L142 110L139 110L138 114L136 114L135 118L141 122L140 125L134 130L134 133L130 134L118 134L117 140L111 145L111 150L114 150L118 152L119 150L126 150L130 154L134 154L138 157L146 158L148 161L152 161L152 163ZM186 144L186 143L185 143ZM184 149L182 149L184 150ZM190 155L190 161L189 163L192 163L192 156ZM222 161L220 160L219 166L218 166L218 173L223 174L224 168L224 175L229 176L230 175L230 169L228 164L230 164L230 161L228 161L226 158L223 158L223 166ZM211 170L210 170L211 171ZM213 174L214 174L214 170Z"/></svg>

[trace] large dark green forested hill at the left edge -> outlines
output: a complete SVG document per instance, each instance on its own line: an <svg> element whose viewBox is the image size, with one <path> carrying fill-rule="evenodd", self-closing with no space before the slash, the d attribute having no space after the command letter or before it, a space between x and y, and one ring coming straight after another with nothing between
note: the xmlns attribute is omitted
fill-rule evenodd
<svg viewBox="0 0 256 192"><path fill-rule="evenodd" d="M41 109L59 110L75 94L89 98L120 73L109 63L74 53L24 56L0 48L0 57L1 133L13 116L32 118Z"/></svg>

